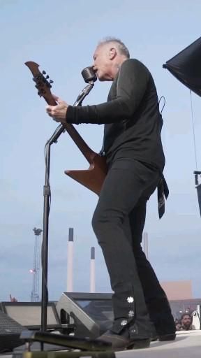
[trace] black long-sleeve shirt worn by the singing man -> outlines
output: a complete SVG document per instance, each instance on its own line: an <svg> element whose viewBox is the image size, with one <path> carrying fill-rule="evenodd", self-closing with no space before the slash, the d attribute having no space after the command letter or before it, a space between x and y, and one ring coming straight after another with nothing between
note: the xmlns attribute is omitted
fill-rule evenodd
<svg viewBox="0 0 201 358"><path fill-rule="evenodd" d="M107 158L132 157L163 171L162 118L156 87L147 67L137 59L121 64L107 102L68 106L66 120L105 124L103 151Z"/></svg>

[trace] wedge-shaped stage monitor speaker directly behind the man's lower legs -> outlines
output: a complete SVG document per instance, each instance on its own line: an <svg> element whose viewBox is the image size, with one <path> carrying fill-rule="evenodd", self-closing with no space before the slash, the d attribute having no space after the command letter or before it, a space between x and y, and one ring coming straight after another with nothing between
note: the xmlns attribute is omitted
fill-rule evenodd
<svg viewBox="0 0 201 358"><path fill-rule="evenodd" d="M97 338L114 317L112 294L64 292L56 309L61 324L74 324L77 337Z"/></svg>

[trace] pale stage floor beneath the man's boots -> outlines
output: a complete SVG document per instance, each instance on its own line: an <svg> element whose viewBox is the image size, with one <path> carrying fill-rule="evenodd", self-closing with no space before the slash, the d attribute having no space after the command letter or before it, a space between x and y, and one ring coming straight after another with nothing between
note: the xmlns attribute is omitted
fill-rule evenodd
<svg viewBox="0 0 201 358"><path fill-rule="evenodd" d="M64 352L64 351L63 351ZM1 358L12 358L12 353L1 354ZM19 357L19 356L18 356ZM89 356L88 356L89 357ZM117 358L200 358L201 331L180 331L173 342L151 342L144 350L115 352Z"/></svg>

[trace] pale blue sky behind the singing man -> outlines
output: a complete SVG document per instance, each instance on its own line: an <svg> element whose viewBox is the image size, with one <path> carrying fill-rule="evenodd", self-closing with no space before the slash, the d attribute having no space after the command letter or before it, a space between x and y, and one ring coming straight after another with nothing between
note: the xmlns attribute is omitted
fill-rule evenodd
<svg viewBox="0 0 201 358"><path fill-rule="evenodd" d="M200 37L198 0L0 0L1 34L1 252L0 300L9 294L29 301L34 260L34 227L43 228L44 146L57 127L45 113L24 62L34 61L54 80L52 92L73 104L84 87L81 71L92 63L96 44L116 36L131 57L148 66L165 96L163 147L170 188L166 213L158 220L156 193L147 209L149 258L160 280L193 280L201 296L201 218L193 171L195 153L189 90L163 64ZM85 104L107 99L111 83L98 83ZM200 97L193 94L198 170L201 170ZM95 151L103 126L76 129ZM50 299L66 290L68 228L74 228L74 290L89 292L90 248L96 248L96 291L110 292L103 255L91 229L98 197L64 175L88 164L67 134L52 145L50 184Z"/></svg>

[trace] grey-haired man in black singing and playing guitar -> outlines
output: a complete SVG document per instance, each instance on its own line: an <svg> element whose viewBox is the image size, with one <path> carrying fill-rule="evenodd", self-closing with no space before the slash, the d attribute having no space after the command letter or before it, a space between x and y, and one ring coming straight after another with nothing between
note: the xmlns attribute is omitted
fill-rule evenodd
<svg viewBox="0 0 201 358"><path fill-rule="evenodd" d="M61 123L105 124L108 172L92 226L114 292L114 322L100 338L114 350L146 348L151 322L159 340L175 338L168 299L141 247L147 200L163 177L163 120L151 73L120 40L98 44L93 68L100 81L112 81L107 102L73 107L54 96L57 106L46 110Z"/></svg>

